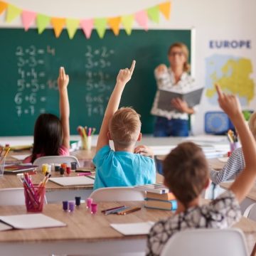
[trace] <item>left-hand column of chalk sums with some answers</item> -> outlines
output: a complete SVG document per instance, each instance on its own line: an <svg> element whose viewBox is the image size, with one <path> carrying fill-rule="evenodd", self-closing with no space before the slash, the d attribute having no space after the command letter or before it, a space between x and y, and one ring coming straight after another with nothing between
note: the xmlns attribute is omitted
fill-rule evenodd
<svg viewBox="0 0 256 256"><path fill-rule="evenodd" d="M55 55L55 48L37 48L36 46L17 46L16 60L18 80L14 102L18 117L33 116L46 112L46 86L56 89L56 81L46 81L45 58L46 55ZM57 87L58 89L58 87Z"/></svg>

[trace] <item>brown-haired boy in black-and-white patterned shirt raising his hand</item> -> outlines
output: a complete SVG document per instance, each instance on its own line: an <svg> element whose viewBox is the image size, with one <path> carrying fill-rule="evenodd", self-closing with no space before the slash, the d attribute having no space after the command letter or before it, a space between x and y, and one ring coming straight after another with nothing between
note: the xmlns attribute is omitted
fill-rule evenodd
<svg viewBox="0 0 256 256"><path fill-rule="evenodd" d="M160 220L150 230L146 255L161 255L172 235L193 228L228 228L241 217L239 203L256 180L256 142L242 115L238 98L225 95L218 85L218 102L240 135L245 169L230 189L208 205L200 206L200 195L209 183L209 168L203 151L192 142L179 144L164 160L164 182L177 198L176 213Z"/></svg>

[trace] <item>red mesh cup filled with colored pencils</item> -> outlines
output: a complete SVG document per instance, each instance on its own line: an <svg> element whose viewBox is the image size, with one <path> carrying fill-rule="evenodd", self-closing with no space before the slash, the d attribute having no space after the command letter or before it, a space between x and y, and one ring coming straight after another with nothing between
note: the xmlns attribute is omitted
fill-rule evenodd
<svg viewBox="0 0 256 256"><path fill-rule="evenodd" d="M26 209L28 212L40 213L43 211L43 202L46 196L46 183L48 178L50 178L50 174L46 174L41 183L34 185L28 174L24 174L21 177L24 187Z"/></svg>

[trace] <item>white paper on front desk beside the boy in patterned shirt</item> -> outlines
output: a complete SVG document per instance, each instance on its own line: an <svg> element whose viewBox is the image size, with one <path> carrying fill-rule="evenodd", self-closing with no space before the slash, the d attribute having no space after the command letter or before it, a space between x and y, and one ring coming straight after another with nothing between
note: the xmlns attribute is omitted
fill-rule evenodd
<svg viewBox="0 0 256 256"><path fill-rule="evenodd" d="M112 228L122 235L147 235L152 225L154 225L154 222L152 221L144 223L110 224Z"/></svg>

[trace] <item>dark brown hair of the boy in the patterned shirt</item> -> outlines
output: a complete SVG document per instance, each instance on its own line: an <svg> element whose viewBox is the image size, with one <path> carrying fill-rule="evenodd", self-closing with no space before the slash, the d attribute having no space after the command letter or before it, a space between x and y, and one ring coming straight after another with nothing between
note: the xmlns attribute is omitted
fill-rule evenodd
<svg viewBox="0 0 256 256"><path fill-rule="evenodd" d="M193 142L183 142L166 156L163 167L166 185L188 208L208 182L208 162L203 150Z"/></svg>

